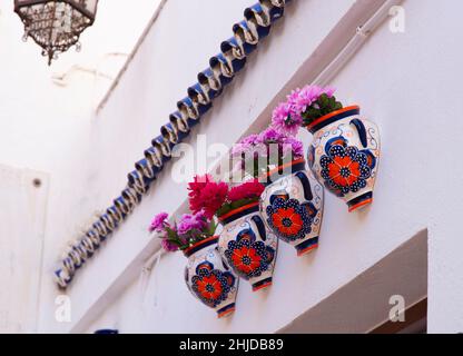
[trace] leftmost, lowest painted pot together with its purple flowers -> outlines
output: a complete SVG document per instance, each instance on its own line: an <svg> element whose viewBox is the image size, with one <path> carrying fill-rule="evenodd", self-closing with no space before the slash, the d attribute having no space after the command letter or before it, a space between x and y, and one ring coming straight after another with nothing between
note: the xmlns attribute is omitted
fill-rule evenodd
<svg viewBox="0 0 463 356"><path fill-rule="evenodd" d="M216 224L204 210L185 214L175 224L167 219L167 212L158 214L151 221L150 230L159 234L165 250L183 250L188 258L185 268L188 289L215 309L219 318L230 315L235 312L238 278L217 249Z"/></svg>

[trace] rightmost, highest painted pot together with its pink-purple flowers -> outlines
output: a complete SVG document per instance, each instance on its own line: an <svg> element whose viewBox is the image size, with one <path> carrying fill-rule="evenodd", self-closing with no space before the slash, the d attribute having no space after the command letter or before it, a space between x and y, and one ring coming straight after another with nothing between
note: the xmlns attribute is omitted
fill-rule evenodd
<svg viewBox="0 0 463 356"><path fill-rule="evenodd" d="M304 126L313 134L308 166L315 178L341 197L349 211L373 201L380 160L375 123L359 117L359 107L344 108L333 88L306 86L294 90L274 111L273 126L297 134Z"/></svg>

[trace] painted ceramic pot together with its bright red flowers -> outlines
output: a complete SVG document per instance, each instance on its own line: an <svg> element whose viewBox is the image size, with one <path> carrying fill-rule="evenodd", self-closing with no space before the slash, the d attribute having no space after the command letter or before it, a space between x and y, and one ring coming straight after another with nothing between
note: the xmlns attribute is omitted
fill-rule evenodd
<svg viewBox="0 0 463 356"><path fill-rule="evenodd" d="M264 186L252 179L229 189L210 176L197 176L188 189L190 209L216 215L223 225L219 251L235 274L254 291L270 286L278 241L259 214Z"/></svg>

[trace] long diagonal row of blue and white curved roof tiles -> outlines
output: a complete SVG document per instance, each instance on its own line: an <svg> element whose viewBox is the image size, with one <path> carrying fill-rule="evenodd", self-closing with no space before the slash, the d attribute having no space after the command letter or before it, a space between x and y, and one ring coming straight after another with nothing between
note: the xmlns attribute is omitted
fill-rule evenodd
<svg viewBox="0 0 463 356"><path fill-rule="evenodd" d="M269 34L272 24L284 14L290 0L259 0L247 8L245 19L233 27L234 36L221 42L220 52L209 60L209 67L198 73L198 82L188 88L188 96L177 102L177 111L169 116L169 122L160 128L160 136L145 150L145 158L135 164L128 175L127 187L114 200L105 214L91 225L67 251L60 267L55 271L58 286L66 288L76 271L125 221L149 190L166 162L171 159L175 145L181 142L211 108L215 98L245 67L247 57L257 48L259 41Z"/></svg>

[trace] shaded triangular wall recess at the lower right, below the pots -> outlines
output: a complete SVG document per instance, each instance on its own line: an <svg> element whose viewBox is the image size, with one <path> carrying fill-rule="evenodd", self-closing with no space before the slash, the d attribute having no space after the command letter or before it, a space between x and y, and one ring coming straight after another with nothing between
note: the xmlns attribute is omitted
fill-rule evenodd
<svg viewBox="0 0 463 356"><path fill-rule="evenodd" d="M426 295L427 230L422 230L278 333L363 334L391 324L410 326L413 320L406 318L412 315L408 310L416 309L425 316ZM405 314L401 315L405 309ZM398 322L392 323L390 315L397 315L395 312L398 312ZM410 330L423 332L425 319L416 319L416 323L421 328Z"/></svg>

